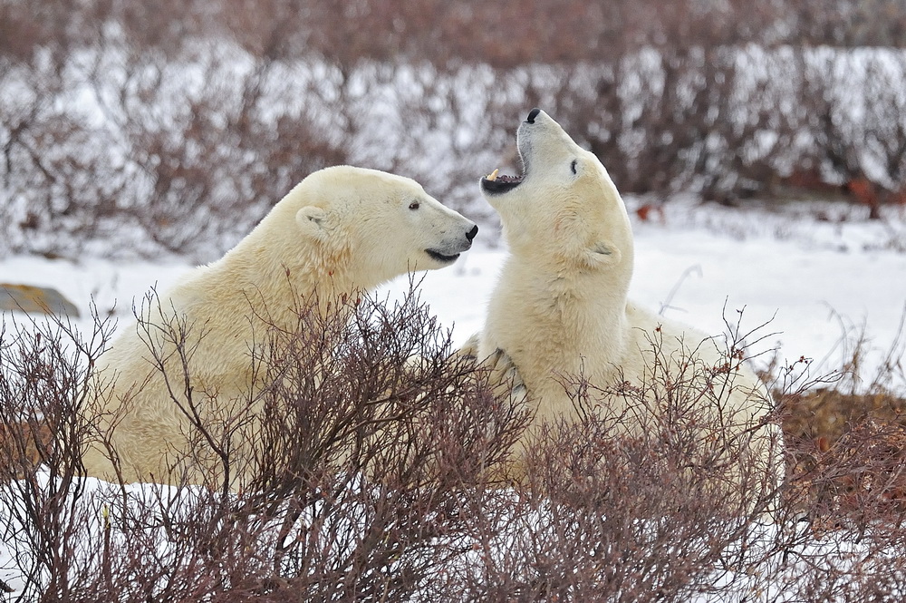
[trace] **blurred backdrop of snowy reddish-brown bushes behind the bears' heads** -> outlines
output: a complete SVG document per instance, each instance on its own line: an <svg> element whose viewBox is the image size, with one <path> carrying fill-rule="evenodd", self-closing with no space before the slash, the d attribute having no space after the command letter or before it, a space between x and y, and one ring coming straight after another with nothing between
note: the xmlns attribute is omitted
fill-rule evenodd
<svg viewBox="0 0 906 603"><path fill-rule="evenodd" d="M902 0L0 0L0 257L207 261L337 163L493 224L534 106L644 207L880 218L904 46Z"/></svg>

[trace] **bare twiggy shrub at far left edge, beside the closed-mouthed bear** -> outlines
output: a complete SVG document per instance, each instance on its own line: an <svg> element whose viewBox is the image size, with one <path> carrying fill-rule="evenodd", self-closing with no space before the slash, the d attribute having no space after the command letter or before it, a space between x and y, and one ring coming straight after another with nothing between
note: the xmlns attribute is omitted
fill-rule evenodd
<svg viewBox="0 0 906 603"><path fill-rule="evenodd" d="M111 333L95 318L88 338L62 321L4 322L0 332L0 515L20 600L77 600L93 579L91 517L80 501L90 491L82 479L82 445L92 437L84 413L95 402L93 362Z"/></svg>

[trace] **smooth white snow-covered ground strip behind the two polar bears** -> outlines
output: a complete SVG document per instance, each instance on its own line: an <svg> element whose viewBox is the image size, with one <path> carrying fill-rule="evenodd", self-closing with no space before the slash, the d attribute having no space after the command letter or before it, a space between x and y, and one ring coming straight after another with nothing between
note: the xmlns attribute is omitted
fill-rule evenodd
<svg viewBox="0 0 906 603"><path fill-rule="evenodd" d="M632 208L638 204L628 199ZM651 217L652 214L650 214ZM781 360L814 359L813 375L839 368L857 336L869 338L863 379L897 346L906 313L906 210L884 223L859 219L858 210L827 206L793 214L738 210L678 201L655 219L635 219L635 275L631 297L708 334L725 332L724 318L766 338L755 352L777 347ZM633 212L634 216L634 212ZM816 218L816 216L818 218ZM830 216L830 218L828 218ZM440 323L463 342L482 326L485 306L506 258L499 233L479 232L477 248L457 264L427 273L421 297ZM120 326L133 300L151 286L166 290L191 266L166 262L35 257L0 259L0 282L55 287L82 309L88 326L92 299L101 313L115 308ZM382 288L397 296L405 277ZM666 306L666 307L665 307ZM726 311L725 311L726 306ZM9 315L5 315L5 319ZM766 361L768 355L762 356ZM894 384L901 386L902 384Z"/></svg>

